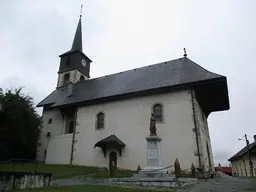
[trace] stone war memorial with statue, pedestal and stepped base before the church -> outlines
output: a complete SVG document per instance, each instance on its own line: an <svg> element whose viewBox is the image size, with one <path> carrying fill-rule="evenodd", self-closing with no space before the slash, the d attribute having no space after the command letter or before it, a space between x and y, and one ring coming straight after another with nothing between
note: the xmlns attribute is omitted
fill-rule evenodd
<svg viewBox="0 0 256 192"><path fill-rule="evenodd" d="M152 113L150 117L150 135L147 141L147 166L140 170L138 166L137 174L130 178L113 178L112 183L117 185L137 185L155 187L184 187L197 183L197 178L175 178L174 174L167 173L161 159L161 137L156 133L156 119Z"/></svg>

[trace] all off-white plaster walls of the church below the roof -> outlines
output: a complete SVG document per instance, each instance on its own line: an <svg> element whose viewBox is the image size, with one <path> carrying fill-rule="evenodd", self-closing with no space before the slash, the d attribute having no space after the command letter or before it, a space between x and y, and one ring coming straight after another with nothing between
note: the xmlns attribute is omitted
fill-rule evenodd
<svg viewBox="0 0 256 192"><path fill-rule="evenodd" d="M196 145L196 136L193 131L194 119L191 92L177 91L168 94L152 95L115 102L107 102L92 106L82 106L77 111L76 134L73 154L73 164L108 167L108 157L111 151L107 150L104 157L100 148L94 148L96 142L115 134L122 140L126 147L119 156L118 167L136 169L137 166L146 166L147 143L145 137L149 135L149 118L152 106L160 103L163 106L163 122L157 123L157 134L162 137L162 162L164 166L173 165L179 159L181 168L188 169L191 163L199 165ZM202 118L200 106L196 100L196 123L200 130L200 151L202 163L208 165L206 142L209 144L212 166L213 157L210 144L206 118ZM105 114L105 127L96 130L96 115ZM48 119L52 118L52 124ZM46 163L68 164L71 154L72 134L64 134L65 121L59 110L45 110L43 113L43 134L51 132L52 137L48 142ZM39 155L42 159L40 148ZM117 151L118 152L118 151ZM213 167L212 167L213 168Z"/></svg>

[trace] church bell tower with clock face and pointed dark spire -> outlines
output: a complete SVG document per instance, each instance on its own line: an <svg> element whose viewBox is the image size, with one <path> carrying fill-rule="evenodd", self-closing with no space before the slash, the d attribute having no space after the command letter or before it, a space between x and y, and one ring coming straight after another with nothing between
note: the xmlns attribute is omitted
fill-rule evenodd
<svg viewBox="0 0 256 192"><path fill-rule="evenodd" d="M83 53L82 15L80 15L71 50L60 55L57 88L90 78L91 60Z"/></svg>

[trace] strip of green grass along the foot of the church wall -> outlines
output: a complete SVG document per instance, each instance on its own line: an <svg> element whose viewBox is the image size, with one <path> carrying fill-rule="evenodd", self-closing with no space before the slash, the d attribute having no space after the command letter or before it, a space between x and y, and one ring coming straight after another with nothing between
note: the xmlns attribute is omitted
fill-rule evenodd
<svg viewBox="0 0 256 192"><path fill-rule="evenodd" d="M12 171L14 164L0 164L0 171ZM35 164L15 164L16 172L34 172ZM57 179L71 178L74 176L91 175L93 178L108 178L109 172L99 171L97 167L76 165L49 165L38 164L37 172L53 173ZM132 171L117 171L116 177L131 177Z"/></svg>

